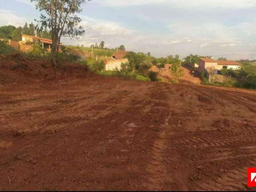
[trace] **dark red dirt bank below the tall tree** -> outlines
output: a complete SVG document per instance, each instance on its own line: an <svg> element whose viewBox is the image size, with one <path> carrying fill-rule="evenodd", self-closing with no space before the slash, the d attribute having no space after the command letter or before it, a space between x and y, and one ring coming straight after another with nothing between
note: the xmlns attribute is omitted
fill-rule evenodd
<svg viewBox="0 0 256 192"><path fill-rule="evenodd" d="M10 82L38 82L42 80L88 76L87 66L45 59L24 58L20 54L0 56L0 84Z"/></svg>

